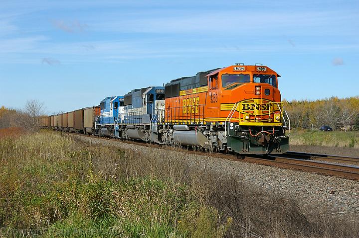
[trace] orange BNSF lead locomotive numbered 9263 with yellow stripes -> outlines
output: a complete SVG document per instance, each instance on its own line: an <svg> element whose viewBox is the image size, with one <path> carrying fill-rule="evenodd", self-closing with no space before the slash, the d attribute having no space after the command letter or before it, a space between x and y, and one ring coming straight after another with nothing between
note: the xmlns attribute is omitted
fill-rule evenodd
<svg viewBox="0 0 359 238"><path fill-rule="evenodd" d="M158 111L158 143L210 151L278 154L288 150L290 121L277 78L262 65L235 64L172 80Z"/></svg>

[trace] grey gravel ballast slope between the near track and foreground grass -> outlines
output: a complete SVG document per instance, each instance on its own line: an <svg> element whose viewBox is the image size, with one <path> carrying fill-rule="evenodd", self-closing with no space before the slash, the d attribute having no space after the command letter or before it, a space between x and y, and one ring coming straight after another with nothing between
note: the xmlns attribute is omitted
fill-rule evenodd
<svg viewBox="0 0 359 238"><path fill-rule="evenodd" d="M328 216L351 217L359 215L359 181L331 177L316 173L284 169L242 161L213 158L199 154L153 148L146 145L129 144L121 141L77 136L85 142L111 145L121 149L135 150L144 156L153 153L174 153L188 159L191 166L204 167L218 174L230 174L265 192L292 197L301 206L317 207Z"/></svg>

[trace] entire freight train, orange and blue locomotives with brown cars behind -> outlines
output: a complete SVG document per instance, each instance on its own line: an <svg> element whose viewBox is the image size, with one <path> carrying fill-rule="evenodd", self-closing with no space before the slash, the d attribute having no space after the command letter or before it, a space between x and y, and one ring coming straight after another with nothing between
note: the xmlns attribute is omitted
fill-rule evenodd
<svg viewBox="0 0 359 238"><path fill-rule="evenodd" d="M64 114L61 125L58 115L49 122L54 129L168 146L281 154L288 150L290 120L278 77L267 66L235 64L106 97L100 107L67 113L67 127Z"/></svg>

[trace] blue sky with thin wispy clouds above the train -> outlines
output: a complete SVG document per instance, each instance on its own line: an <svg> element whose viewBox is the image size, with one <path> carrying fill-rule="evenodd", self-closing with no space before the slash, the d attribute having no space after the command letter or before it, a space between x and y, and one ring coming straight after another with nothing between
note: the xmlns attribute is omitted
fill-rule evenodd
<svg viewBox="0 0 359 238"><path fill-rule="evenodd" d="M0 105L99 104L234 63L282 77L282 98L359 95L358 0L0 0Z"/></svg>

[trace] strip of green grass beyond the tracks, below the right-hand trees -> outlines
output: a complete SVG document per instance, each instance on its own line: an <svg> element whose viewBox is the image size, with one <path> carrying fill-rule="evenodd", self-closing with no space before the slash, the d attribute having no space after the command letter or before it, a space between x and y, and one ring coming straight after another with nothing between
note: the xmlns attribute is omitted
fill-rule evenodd
<svg viewBox="0 0 359 238"><path fill-rule="evenodd" d="M293 146L328 146L359 148L359 131L291 131L289 144Z"/></svg>

